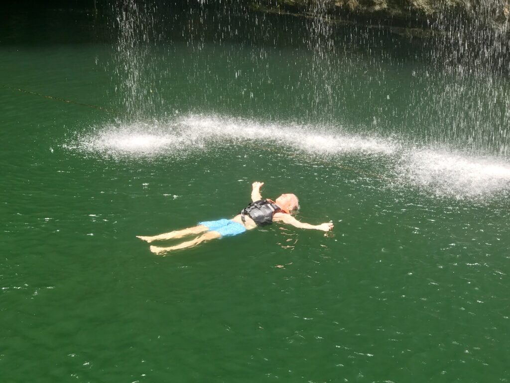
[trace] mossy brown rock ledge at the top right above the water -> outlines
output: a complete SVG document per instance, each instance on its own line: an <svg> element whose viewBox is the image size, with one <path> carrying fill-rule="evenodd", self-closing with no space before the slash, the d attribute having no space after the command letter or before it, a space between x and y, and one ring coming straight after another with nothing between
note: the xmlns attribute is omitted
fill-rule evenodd
<svg viewBox="0 0 510 383"><path fill-rule="evenodd" d="M253 9L336 23L362 23L398 34L428 37L469 28L510 31L510 0L253 0Z"/></svg>

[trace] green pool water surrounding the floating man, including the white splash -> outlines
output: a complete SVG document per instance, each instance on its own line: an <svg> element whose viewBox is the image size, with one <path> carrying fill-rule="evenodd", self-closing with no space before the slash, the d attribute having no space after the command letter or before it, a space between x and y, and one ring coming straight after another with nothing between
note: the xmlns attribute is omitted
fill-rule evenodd
<svg viewBox="0 0 510 383"><path fill-rule="evenodd" d="M302 21L257 16L269 36L168 32L127 118L108 14L3 17L0 84L109 111L0 88L2 381L508 381L504 80L438 105L417 41L339 37L314 70ZM254 180L333 233L135 237L233 216Z"/></svg>

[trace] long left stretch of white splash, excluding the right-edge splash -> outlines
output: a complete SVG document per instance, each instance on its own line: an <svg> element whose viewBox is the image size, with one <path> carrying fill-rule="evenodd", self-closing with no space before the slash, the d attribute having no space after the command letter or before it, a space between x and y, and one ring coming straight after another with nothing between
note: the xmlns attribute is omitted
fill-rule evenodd
<svg viewBox="0 0 510 383"><path fill-rule="evenodd" d="M112 124L94 129L68 144L68 149L112 157L186 155L222 145L274 143L309 153L363 152L391 154L394 142L378 136L338 133L297 124L259 123L242 118L188 115L168 122Z"/></svg>

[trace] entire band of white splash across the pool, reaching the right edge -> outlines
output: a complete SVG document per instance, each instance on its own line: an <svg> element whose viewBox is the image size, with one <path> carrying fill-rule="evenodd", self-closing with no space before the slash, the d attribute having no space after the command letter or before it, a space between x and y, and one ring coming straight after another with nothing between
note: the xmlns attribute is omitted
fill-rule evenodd
<svg viewBox="0 0 510 383"><path fill-rule="evenodd" d="M486 198L506 194L510 163L454 150L416 147L380 135L348 132L342 127L258 122L218 115L188 114L164 122L115 123L75 137L64 147L113 158L185 157L233 145L290 151L335 162L346 154L375 157L378 178L388 184L414 185L428 194ZM344 157L342 157L344 163ZM368 170L375 174L374 170ZM360 170L366 174L367 169ZM394 181L394 182L392 182Z"/></svg>

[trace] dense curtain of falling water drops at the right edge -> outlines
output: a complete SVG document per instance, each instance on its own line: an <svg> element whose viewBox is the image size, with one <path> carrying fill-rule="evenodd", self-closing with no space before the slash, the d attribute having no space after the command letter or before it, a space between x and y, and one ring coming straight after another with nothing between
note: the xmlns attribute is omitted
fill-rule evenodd
<svg viewBox="0 0 510 383"><path fill-rule="evenodd" d="M433 28L435 79L431 115L446 142L475 151L507 154L510 137L510 25L504 2L473 3L464 12L445 7Z"/></svg>

